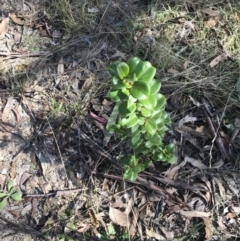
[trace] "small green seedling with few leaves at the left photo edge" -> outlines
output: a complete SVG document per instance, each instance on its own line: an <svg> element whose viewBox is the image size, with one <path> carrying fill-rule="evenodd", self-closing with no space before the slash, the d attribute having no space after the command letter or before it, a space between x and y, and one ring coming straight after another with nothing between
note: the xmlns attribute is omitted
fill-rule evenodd
<svg viewBox="0 0 240 241"><path fill-rule="evenodd" d="M7 192L0 192L0 210L2 210L6 204L9 198L12 198L15 201L21 201L22 200L22 193L20 191L17 191L13 187L13 180L10 180L7 184Z"/></svg>

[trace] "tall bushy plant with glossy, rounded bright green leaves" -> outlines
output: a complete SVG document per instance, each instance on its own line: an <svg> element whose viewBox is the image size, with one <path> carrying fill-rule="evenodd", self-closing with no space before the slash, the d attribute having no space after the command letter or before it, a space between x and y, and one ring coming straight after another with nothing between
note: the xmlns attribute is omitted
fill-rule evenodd
<svg viewBox="0 0 240 241"><path fill-rule="evenodd" d="M165 111L161 83L154 79L156 69L137 57L127 63L115 62L109 96L116 104L118 120L110 118L107 129L129 143L131 153L122 160L124 178L135 180L152 161L175 162L174 145L163 143L170 118Z"/></svg>

